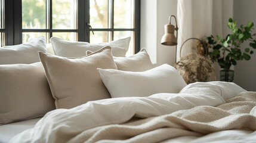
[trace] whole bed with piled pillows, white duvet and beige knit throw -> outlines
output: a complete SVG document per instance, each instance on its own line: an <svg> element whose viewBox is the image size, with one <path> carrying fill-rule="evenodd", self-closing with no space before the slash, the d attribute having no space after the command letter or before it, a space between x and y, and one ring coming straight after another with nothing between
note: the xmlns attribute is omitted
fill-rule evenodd
<svg viewBox="0 0 256 143"><path fill-rule="evenodd" d="M187 85L174 67L153 66L145 49L112 55L125 56L128 40L91 51L53 38L60 55L48 54L42 37L10 47L41 41L42 49L25 50L23 60L41 52L24 63L0 57L0 142L256 141L256 92L230 82ZM67 58L63 44L83 51Z"/></svg>

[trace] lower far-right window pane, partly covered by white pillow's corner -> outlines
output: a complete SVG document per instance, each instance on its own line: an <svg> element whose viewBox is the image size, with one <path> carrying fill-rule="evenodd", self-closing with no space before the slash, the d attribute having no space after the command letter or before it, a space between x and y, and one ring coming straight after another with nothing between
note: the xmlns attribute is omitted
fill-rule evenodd
<svg viewBox="0 0 256 143"><path fill-rule="evenodd" d="M131 36L131 41L129 42L129 49L127 51L127 54L125 55L126 57L134 54L134 32L132 31L115 31L114 32L114 40L127 38L129 36Z"/></svg>

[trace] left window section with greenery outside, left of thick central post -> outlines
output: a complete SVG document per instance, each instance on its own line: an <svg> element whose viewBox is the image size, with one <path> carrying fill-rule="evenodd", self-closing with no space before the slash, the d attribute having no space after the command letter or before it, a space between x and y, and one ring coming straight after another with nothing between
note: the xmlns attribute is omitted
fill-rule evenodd
<svg viewBox="0 0 256 143"><path fill-rule="evenodd" d="M22 42L45 36L77 41L77 0L22 0Z"/></svg>

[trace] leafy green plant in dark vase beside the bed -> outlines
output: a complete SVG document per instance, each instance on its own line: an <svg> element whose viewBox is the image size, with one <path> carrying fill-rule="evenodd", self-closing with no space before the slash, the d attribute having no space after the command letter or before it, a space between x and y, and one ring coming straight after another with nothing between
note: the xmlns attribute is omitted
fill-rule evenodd
<svg viewBox="0 0 256 143"><path fill-rule="evenodd" d="M221 38L219 35L217 35L217 40L212 35L207 37L210 45L208 55L212 62L218 62L223 69L220 71L220 80L232 82L234 71L230 70L230 67L235 66L236 61L251 59L250 55L254 53L252 49L256 49L256 33L252 34L254 29L252 21L249 21L247 26L240 25L237 27L236 20L229 18L227 26L232 30L232 33L228 34L226 38ZM242 50L240 45L244 41L249 41L249 45Z"/></svg>

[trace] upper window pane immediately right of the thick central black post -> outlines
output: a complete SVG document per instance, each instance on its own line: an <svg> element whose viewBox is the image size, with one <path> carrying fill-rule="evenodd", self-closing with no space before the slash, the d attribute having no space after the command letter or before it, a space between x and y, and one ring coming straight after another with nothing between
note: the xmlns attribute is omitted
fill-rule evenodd
<svg viewBox="0 0 256 143"><path fill-rule="evenodd" d="M108 1L90 0L90 24L92 28L107 28L108 26Z"/></svg>

